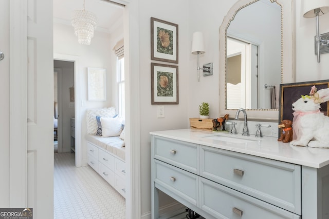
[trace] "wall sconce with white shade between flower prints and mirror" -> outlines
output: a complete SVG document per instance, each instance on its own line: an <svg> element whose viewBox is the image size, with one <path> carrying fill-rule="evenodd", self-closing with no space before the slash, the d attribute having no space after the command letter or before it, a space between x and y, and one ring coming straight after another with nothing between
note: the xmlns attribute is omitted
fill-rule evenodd
<svg viewBox="0 0 329 219"><path fill-rule="evenodd" d="M202 32L193 33L191 53L197 54L197 81L200 81L200 69L203 70L204 76L212 75L212 63L205 64L203 68L199 66L199 54L205 53L204 36Z"/></svg>

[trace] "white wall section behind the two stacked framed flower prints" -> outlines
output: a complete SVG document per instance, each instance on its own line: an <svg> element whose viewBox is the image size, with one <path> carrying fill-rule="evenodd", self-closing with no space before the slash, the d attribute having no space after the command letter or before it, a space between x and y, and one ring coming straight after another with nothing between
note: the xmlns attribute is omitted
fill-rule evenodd
<svg viewBox="0 0 329 219"><path fill-rule="evenodd" d="M188 34L188 0L168 0L164 4L158 0L139 1L140 31L140 147L141 147L141 212L151 210L151 161L150 131L178 129L188 127L188 87L190 76L188 53L190 50ZM165 105L165 118L157 118L157 105L151 105L151 63L163 63L151 60L151 17L178 24L178 82L179 104ZM130 34L134 35L134 34ZM175 64L173 64L175 65ZM165 205L164 201L160 205Z"/></svg>

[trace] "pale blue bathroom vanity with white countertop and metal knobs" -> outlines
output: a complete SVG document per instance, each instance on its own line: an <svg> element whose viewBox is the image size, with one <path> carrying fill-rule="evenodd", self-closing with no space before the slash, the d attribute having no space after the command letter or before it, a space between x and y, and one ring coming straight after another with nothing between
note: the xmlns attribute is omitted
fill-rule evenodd
<svg viewBox="0 0 329 219"><path fill-rule="evenodd" d="M329 149L195 129L151 132L161 190L205 218L329 218Z"/></svg>

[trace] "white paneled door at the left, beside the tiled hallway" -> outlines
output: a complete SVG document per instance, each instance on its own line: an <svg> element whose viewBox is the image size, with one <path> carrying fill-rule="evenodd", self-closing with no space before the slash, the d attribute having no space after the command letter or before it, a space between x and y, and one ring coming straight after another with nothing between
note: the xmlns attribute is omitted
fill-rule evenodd
<svg viewBox="0 0 329 219"><path fill-rule="evenodd" d="M27 1L27 205L53 217L52 0Z"/></svg>

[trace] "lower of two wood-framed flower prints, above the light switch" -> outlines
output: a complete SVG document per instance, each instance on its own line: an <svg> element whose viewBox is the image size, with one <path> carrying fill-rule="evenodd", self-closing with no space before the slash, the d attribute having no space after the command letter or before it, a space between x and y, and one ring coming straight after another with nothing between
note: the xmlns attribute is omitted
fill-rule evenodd
<svg viewBox="0 0 329 219"><path fill-rule="evenodd" d="M151 103L178 104L178 66L151 63Z"/></svg>

